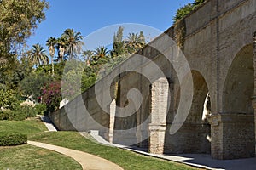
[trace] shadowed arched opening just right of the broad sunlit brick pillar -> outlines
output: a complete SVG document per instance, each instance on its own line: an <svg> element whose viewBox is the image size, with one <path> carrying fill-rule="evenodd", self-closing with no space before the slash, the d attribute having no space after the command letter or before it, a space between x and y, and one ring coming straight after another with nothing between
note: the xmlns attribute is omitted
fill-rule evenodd
<svg viewBox="0 0 256 170"><path fill-rule="evenodd" d="M211 152L211 127L207 120L202 120L204 105L209 89L207 82L199 71L192 71L194 95L189 115L183 126L177 133L171 135L169 129L172 122L169 122L166 127L165 153L204 153ZM186 78L184 78L186 81ZM181 82L186 83L186 82ZM179 89L178 89L179 91ZM176 103L174 110L169 112L168 117L176 115L179 100L179 94L176 93ZM177 103L178 101L178 103ZM171 101L173 102L173 101Z"/></svg>

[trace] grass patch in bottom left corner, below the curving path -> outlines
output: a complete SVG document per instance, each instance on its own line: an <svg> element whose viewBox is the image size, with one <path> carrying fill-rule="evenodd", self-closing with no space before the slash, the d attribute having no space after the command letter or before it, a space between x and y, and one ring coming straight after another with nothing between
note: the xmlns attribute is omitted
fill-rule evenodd
<svg viewBox="0 0 256 170"><path fill-rule="evenodd" d="M70 157L29 144L0 147L0 156L0 169L82 169L80 164Z"/></svg>

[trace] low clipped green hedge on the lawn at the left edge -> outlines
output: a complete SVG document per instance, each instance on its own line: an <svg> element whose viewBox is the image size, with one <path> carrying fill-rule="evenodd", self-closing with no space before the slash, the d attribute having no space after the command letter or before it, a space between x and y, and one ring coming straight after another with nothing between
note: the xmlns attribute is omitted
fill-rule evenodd
<svg viewBox="0 0 256 170"><path fill-rule="evenodd" d="M0 132L0 146L26 144L27 136L21 133Z"/></svg>

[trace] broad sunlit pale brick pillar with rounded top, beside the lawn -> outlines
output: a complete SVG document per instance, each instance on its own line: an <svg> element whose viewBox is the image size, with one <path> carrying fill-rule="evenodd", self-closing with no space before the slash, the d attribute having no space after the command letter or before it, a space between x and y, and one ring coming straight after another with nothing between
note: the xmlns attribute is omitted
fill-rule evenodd
<svg viewBox="0 0 256 170"><path fill-rule="evenodd" d="M166 78L160 78L152 84L151 111L148 151L154 154L164 152L166 133L166 113L168 105L169 84Z"/></svg>

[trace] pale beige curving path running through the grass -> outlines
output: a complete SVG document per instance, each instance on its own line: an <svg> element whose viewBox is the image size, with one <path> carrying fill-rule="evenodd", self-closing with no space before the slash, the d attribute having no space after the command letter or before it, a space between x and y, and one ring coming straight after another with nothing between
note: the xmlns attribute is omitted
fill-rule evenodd
<svg viewBox="0 0 256 170"><path fill-rule="evenodd" d="M90 155L79 150L71 150L60 146L55 146L52 144L44 144L33 141L27 141L27 144L32 144L34 146L38 146L40 148L48 150L54 150L65 156L72 157L75 161L79 162L83 169L86 170L123 170L122 167L119 167L118 165L114 164L111 161L105 160L98 156Z"/></svg>

